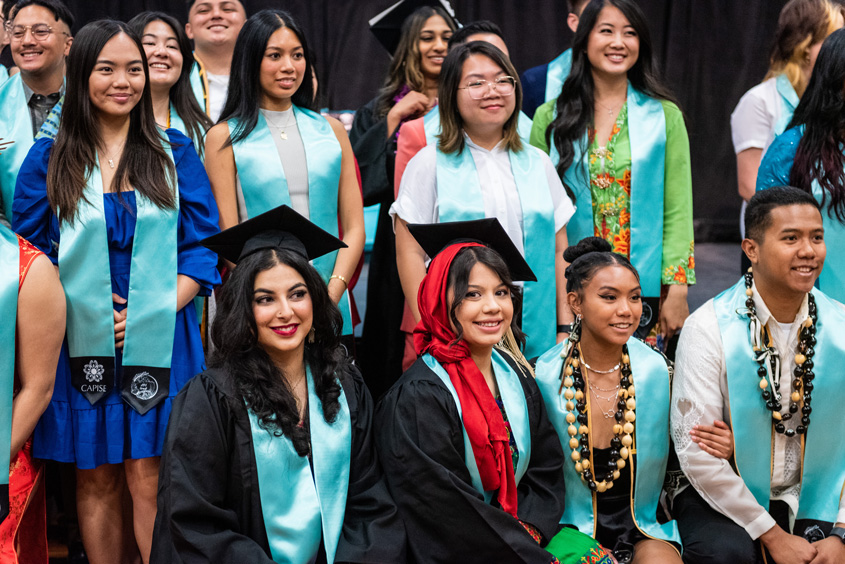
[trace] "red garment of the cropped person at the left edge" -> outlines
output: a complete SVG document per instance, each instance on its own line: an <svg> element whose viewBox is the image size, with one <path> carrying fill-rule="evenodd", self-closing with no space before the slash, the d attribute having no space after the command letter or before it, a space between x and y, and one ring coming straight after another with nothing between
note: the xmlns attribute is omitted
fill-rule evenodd
<svg viewBox="0 0 845 564"><path fill-rule="evenodd" d="M18 238L20 275L23 284L32 262L41 254ZM19 386L15 374L15 390ZM43 463L32 458L32 438L9 465L9 515L0 523L0 564L47 564L47 507L43 486Z"/></svg>

